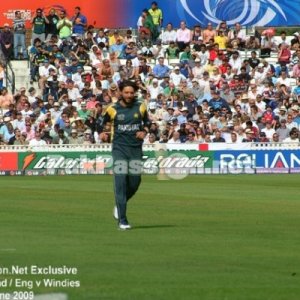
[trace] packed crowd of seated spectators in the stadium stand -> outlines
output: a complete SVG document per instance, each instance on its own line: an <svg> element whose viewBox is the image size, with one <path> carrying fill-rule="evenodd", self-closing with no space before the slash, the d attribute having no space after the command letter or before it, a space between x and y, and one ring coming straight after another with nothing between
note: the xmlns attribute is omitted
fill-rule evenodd
<svg viewBox="0 0 300 300"><path fill-rule="evenodd" d="M288 40L272 28L246 35L225 21L164 24L156 2L141 12L136 34L89 26L80 7L68 13L38 8L28 51L20 12L4 24L2 145L109 143L103 113L128 79L152 121L145 143L299 143L299 33ZM32 87L12 95L5 61L27 56Z"/></svg>

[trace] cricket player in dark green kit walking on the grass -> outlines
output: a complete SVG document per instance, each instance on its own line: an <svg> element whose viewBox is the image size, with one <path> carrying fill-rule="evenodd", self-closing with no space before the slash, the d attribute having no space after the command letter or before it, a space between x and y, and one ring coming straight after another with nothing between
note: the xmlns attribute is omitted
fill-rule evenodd
<svg viewBox="0 0 300 300"><path fill-rule="evenodd" d="M119 89L121 97L107 108L103 123L111 123L114 217L119 229L127 230L131 228L126 217L127 202L141 183L142 145L150 122L146 105L136 99L137 85L124 81Z"/></svg>

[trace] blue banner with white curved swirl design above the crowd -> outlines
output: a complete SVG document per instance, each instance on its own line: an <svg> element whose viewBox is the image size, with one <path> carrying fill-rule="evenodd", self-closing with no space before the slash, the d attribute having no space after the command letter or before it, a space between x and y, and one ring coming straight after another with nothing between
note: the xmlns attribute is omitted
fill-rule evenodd
<svg viewBox="0 0 300 300"><path fill-rule="evenodd" d="M135 27L142 9L149 8L152 1L133 0L133 19L130 26ZM157 1L163 11L164 26L171 22L179 27L185 20L192 27L199 23L206 26L226 20L232 26L291 26L299 25L300 0L160 0ZM135 22L132 24L132 22ZM129 24L128 24L129 25Z"/></svg>

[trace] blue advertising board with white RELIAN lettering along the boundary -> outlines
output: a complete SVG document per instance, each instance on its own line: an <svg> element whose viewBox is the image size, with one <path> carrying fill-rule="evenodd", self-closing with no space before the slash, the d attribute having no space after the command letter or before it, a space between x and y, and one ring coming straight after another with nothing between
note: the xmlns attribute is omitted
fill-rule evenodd
<svg viewBox="0 0 300 300"><path fill-rule="evenodd" d="M224 150L214 152L221 173L300 173L300 150Z"/></svg>

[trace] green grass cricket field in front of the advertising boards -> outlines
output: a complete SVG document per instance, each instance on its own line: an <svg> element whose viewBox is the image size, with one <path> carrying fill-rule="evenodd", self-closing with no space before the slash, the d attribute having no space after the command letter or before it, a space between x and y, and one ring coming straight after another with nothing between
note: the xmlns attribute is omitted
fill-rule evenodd
<svg viewBox="0 0 300 300"><path fill-rule="evenodd" d="M1 177L0 266L78 268L71 300L298 300L298 175L143 178L131 231L110 176ZM0 292L11 290L0 288ZM26 290L26 289L22 289Z"/></svg>

